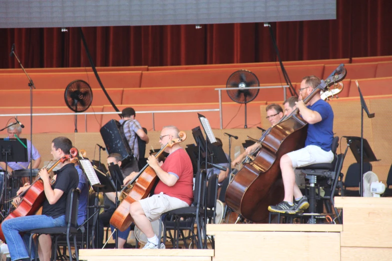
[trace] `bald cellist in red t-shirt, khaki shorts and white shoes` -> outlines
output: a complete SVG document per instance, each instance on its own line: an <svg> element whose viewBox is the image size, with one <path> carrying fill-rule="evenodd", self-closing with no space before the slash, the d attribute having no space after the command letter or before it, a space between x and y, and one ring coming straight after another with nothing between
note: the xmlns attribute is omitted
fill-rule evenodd
<svg viewBox="0 0 392 261"><path fill-rule="evenodd" d="M161 131L159 143L162 147L174 138L179 130L175 126L165 126ZM169 153L162 166L154 156L148 157L148 164L155 170L159 181L154 195L131 204L130 214L135 224L148 238L146 249L159 248L159 239L155 235L150 221L159 219L162 213L189 206L193 201L193 168L186 151L179 143L165 149Z"/></svg>

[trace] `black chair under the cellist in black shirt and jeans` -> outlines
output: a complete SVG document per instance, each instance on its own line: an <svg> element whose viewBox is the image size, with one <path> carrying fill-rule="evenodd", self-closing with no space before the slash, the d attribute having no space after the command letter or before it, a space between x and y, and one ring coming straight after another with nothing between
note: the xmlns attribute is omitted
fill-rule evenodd
<svg viewBox="0 0 392 261"><path fill-rule="evenodd" d="M52 242L52 253L54 253L53 260L56 260L58 238L62 235L66 235L70 260L72 261L70 237L73 236L76 260L79 261L78 247L76 243L76 235L78 233L78 207L79 207L79 190L72 189L68 192L67 195L67 208L66 208L66 215L65 215L66 226L33 229L29 231L29 233L31 233L30 243L29 243L30 254L32 250L33 235L37 234L37 238L38 238L41 234L50 234L54 236L55 239L55 243L53 244ZM36 243L36 260L37 260L37 255L38 255L38 243Z"/></svg>

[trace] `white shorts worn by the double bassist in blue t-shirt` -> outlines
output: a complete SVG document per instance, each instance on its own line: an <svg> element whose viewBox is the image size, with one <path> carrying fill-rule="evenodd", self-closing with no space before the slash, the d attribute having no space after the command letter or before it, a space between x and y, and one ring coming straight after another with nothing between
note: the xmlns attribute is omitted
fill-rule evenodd
<svg viewBox="0 0 392 261"><path fill-rule="evenodd" d="M325 151L319 146L308 145L304 148L288 152L293 167L303 167L317 163L330 163L333 160L331 150Z"/></svg>

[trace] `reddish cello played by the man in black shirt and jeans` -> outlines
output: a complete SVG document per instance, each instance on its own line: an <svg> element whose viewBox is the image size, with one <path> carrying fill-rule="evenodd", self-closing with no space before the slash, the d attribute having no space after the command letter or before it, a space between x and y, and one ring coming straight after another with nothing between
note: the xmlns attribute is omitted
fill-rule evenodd
<svg viewBox="0 0 392 261"><path fill-rule="evenodd" d="M70 149L70 154L65 155L61 157L59 160L57 160L49 169L48 172L52 171L60 162L64 163L67 159L73 158L78 154L78 149L76 148L71 148ZM26 189L24 192L22 192L19 195L22 200L18 205L14 205L15 209L12 210L4 219L8 220L14 217L20 217L20 216L27 216L27 215L34 215L37 210L41 207L41 205L44 203L44 200L46 198L45 196L45 191L44 191L44 181L42 181L41 177L38 177L32 184L31 186ZM3 229L2 229L2 223L0 224L0 239L3 240L3 242L6 241L4 234L3 234Z"/></svg>

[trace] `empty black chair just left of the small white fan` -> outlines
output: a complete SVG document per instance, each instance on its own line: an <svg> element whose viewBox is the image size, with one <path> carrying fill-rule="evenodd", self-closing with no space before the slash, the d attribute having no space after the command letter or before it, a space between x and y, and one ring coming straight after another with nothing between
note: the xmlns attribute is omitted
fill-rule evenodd
<svg viewBox="0 0 392 261"><path fill-rule="evenodd" d="M372 166L370 162L363 162L363 173L366 173L367 171L371 171ZM343 182L343 193L342 195L345 196L359 196L359 191L358 190L348 190L347 187L359 187L359 182L360 182L360 164L359 163L352 163L351 165L348 166L346 176L344 178Z"/></svg>

